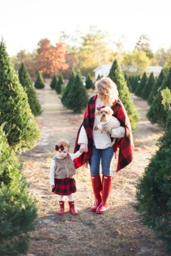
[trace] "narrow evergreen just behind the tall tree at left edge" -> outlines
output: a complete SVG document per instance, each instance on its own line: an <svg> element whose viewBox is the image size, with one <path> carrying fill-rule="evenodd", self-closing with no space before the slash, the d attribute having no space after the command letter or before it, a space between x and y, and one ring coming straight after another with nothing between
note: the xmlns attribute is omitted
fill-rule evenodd
<svg viewBox="0 0 171 256"><path fill-rule="evenodd" d="M27 96L28 96L28 102L30 105L30 109L34 116L38 116L41 114L41 105L39 103L39 100L37 98L37 94L34 90L30 75L26 69L26 66L24 63L20 66L18 70L18 76L20 84L24 87Z"/></svg>

